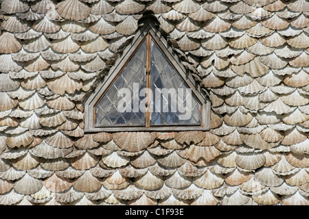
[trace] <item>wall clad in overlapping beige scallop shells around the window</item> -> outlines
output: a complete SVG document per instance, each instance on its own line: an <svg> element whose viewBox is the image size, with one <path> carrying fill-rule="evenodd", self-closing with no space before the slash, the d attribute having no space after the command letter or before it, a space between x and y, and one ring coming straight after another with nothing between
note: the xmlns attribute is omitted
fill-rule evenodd
<svg viewBox="0 0 309 219"><path fill-rule="evenodd" d="M211 129L84 133L152 10ZM4 0L1 205L308 205L309 1Z"/></svg>

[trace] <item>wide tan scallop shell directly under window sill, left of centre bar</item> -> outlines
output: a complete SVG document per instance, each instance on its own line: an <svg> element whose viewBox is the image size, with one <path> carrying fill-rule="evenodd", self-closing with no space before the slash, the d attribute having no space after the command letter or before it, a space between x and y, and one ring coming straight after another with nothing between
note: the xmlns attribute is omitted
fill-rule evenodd
<svg viewBox="0 0 309 219"><path fill-rule="evenodd" d="M155 133L146 132L120 132L113 135L115 143L126 151L135 152L146 149L152 142L155 141Z"/></svg>

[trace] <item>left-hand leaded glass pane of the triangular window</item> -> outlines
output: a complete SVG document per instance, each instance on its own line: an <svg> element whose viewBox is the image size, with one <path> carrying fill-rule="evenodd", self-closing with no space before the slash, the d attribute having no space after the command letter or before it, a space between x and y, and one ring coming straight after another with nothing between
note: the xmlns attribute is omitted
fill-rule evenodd
<svg viewBox="0 0 309 219"><path fill-rule="evenodd" d="M130 59L95 106L95 127L145 126L145 113L139 110L142 96L139 90L146 88L146 40Z"/></svg>

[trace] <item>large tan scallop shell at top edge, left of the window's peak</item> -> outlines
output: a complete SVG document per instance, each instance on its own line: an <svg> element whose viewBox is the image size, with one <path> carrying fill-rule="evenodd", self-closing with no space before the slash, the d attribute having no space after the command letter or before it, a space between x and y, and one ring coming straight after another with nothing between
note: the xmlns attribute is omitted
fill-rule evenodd
<svg viewBox="0 0 309 219"><path fill-rule="evenodd" d="M79 0L65 0L57 4L57 12L67 20L80 21L89 16L90 8Z"/></svg>

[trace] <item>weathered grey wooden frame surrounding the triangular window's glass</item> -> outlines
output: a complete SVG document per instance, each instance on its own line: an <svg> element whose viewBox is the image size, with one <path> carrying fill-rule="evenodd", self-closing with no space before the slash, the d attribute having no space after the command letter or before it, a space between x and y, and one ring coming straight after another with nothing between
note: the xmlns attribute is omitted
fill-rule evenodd
<svg viewBox="0 0 309 219"><path fill-rule="evenodd" d="M147 36L149 36L147 38ZM108 90L108 88L113 84L118 75L122 72L126 64L130 61L131 57L134 55L135 51L139 48L139 45L144 42L146 38L146 43L150 43L150 37L157 44L159 49L162 51L163 55L168 59L168 62L172 65L179 77L187 84L188 88L192 90L192 94L196 97L199 103L201 103L201 125L162 125L162 126L149 126L147 125L149 121L146 120L146 126L119 126L119 127L95 127L95 105L102 99L102 96ZM150 53L150 50L147 51ZM150 57L150 54L146 55ZM146 83L149 83L149 73L150 73L150 59L146 58ZM147 79L148 77L148 79ZM150 85L148 85L150 86ZM104 79L98 83L97 88L93 93L84 101L84 132L116 132L116 131L207 131L210 129L210 101L209 97L203 90L201 86L194 81L192 75L187 73L185 67L181 64L179 58L176 56L172 48L166 42L165 38L157 31L155 25L149 21L144 23L144 26L139 29L135 38L132 42L128 44L126 49L120 57L118 57L113 67L108 71ZM146 116L146 119L149 118Z"/></svg>

